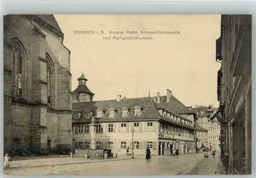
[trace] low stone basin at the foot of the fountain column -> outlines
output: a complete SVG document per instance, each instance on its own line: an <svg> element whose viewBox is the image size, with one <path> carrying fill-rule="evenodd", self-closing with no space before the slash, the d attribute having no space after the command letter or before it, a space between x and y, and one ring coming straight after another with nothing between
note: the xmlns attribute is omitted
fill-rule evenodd
<svg viewBox="0 0 256 178"><path fill-rule="evenodd" d="M108 154L108 158L113 157L111 149L75 149L76 158L104 159L105 153Z"/></svg>

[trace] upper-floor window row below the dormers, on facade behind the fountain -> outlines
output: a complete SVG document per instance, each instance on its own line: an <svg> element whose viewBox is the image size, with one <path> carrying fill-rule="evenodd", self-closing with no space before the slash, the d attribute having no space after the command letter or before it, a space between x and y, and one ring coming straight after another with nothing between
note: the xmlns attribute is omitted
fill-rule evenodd
<svg viewBox="0 0 256 178"><path fill-rule="evenodd" d="M135 122L134 127L138 127L138 126L139 126L139 122ZM153 122L147 122L147 126L148 127L153 126ZM121 123L121 128L126 128L126 123ZM97 124L95 129L96 129L96 133L103 133L102 125ZM114 124L113 123L108 124L108 132L114 132ZM75 131L75 133L76 133L76 131ZM78 125L77 133L89 133L89 124Z"/></svg>

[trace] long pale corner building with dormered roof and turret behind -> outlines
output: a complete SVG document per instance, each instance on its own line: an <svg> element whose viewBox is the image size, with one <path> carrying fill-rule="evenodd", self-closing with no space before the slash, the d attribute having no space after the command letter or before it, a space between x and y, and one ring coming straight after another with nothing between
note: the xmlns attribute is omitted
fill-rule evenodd
<svg viewBox="0 0 256 178"><path fill-rule="evenodd" d="M89 146L88 124L95 117L97 148L112 148L125 154L127 147L131 151L134 146L135 155L143 155L146 147L150 147L154 155L170 154L175 148L182 153L195 151L196 115L169 90L165 96L158 93L155 97L148 94L148 97L121 98L118 95L115 100L93 101L87 79L82 75L78 81L79 89L73 91L76 148Z"/></svg>

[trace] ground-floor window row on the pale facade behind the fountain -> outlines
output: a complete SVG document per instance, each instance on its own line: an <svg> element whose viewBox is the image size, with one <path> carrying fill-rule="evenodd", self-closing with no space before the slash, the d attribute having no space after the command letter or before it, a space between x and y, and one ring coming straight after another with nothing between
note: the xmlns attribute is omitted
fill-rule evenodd
<svg viewBox="0 0 256 178"><path fill-rule="evenodd" d="M135 141L134 143L134 149L145 149L146 147L152 148L153 149L153 142L152 141L147 141L144 142L144 145L142 145L142 142L138 142ZM144 146L144 147L143 147ZM75 147L77 148L90 148L90 142L75 142ZM103 148L114 148L114 143L112 141L109 142L99 142L97 141L95 144L95 147L98 149L103 149ZM130 149L132 149L131 145L127 145L126 141L121 141L120 142L120 147L121 149L127 149L128 147L130 147Z"/></svg>

